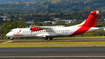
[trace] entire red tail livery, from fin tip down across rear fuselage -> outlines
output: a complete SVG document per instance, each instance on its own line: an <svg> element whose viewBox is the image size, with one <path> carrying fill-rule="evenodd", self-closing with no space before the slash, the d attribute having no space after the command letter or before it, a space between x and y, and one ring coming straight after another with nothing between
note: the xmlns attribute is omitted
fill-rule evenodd
<svg viewBox="0 0 105 59"><path fill-rule="evenodd" d="M89 17L81 24L78 25L80 27L70 36L78 35L87 32L91 27L96 26L97 18L99 15L99 11L93 11L90 13Z"/></svg>

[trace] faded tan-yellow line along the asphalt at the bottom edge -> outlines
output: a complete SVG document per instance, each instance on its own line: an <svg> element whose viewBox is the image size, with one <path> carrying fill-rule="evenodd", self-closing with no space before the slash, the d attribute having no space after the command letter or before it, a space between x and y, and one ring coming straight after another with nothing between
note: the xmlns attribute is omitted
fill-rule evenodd
<svg viewBox="0 0 105 59"><path fill-rule="evenodd" d="M0 58L38 58L38 57L40 57L40 58L55 58L55 57L59 57L59 58L61 58L61 57L69 57L69 58L72 58L72 57L82 57L82 58L88 58L88 57L93 57L93 58L96 58L96 57L98 57L98 58L103 58L103 57L105 57L105 56L0 56Z"/></svg>

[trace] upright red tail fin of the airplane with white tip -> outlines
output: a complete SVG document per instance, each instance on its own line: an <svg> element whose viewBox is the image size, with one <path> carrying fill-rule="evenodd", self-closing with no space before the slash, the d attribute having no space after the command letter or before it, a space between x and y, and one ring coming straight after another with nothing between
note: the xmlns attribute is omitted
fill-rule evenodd
<svg viewBox="0 0 105 59"><path fill-rule="evenodd" d="M95 27L97 23L97 18L99 11L92 11L89 17L86 19L82 27Z"/></svg>

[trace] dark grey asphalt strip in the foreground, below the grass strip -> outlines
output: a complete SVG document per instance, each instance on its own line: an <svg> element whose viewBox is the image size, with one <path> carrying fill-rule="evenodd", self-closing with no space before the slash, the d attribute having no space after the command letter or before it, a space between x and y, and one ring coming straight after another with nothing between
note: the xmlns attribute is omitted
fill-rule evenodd
<svg viewBox="0 0 105 59"><path fill-rule="evenodd" d="M105 58L105 47L0 48L0 58Z"/></svg>

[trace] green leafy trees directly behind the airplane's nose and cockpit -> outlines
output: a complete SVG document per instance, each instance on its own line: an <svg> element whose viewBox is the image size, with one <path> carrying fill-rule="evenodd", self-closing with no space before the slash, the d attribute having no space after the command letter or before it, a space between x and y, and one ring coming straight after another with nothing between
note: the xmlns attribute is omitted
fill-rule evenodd
<svg viewBox="0 0 105 59"><path fill-rule="evenodd" d="M1 38L6 38L6 34L11 31L13 28L25 28L26 25L25 25L25 20L18 20L18 21L15 21L14 19L10 19L7 23L4 23L3 25L1 25L1 28L0 28L0 37Z"/></svg>

